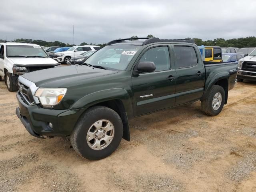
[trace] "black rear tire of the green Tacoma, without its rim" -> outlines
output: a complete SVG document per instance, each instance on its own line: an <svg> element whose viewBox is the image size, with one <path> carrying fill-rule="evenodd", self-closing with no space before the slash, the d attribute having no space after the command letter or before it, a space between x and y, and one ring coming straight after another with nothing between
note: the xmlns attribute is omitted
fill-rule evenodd
<svg viewBox="0 0 256 192"><path fill-rule="evenodd" d="M220 108L218 108L218 110L214 110L213 106L212 106L212 100L214 98L214 95L218 92L221 93L222 102L221 102ZM219 85L212 86L212 88L209 91L206 98L204 98L204 100L201 100L201 110L204 111L207 115L210 115L210 116L218 115L221 112L221 110L224 106L225 97L226 97L225 91L222 88L222 86L219 86Z"/></svg>

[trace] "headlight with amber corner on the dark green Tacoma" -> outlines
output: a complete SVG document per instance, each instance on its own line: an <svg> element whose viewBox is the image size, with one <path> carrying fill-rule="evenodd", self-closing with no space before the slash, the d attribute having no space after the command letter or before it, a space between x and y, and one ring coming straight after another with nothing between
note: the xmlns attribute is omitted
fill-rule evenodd
<svg viewBox="0 0 256 192"><path fill-rule="evenodd" d="M35 96L44 107L51 108L57 105L65 96L67 88L38 88Z"/></svg>

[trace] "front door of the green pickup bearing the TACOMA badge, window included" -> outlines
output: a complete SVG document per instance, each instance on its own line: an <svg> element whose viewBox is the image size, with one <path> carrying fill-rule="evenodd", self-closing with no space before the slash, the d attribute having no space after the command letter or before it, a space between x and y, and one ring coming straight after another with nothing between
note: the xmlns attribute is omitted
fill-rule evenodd
<svg viewBox="0 0 256 192"><path fill-rule="evenodd" d="M132 75L134 116L174 106L176 72L170 50L170 44L152 45L136 61L154 62L156 70Z"/></svg>

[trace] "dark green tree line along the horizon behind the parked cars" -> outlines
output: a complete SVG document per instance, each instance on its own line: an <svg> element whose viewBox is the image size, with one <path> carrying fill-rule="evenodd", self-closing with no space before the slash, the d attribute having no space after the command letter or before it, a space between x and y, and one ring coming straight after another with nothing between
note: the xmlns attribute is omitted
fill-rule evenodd
<svg viewBox="0 0 256 192"><path fill-rule="evenodd" d="M148 35L148 38L152 38L154 37L153 35ZM131 36L131 38L138 38L138 36L134 35ZM256 47L256 37L252 36L252 37L245 37L245 38L233 38L233 39L223 39L223 38L217 38L214 40L206 40L203 41L200 38L189 38L195 41L195 43L200 46L200 45L204 45L204 46L220 46L220 47L238 47L238 48L243 48L243 47ZM0 41L4 41L1 40ZM44 41L44 40L33 40L33 39L15 39L14 41L26 41L26 42L32 42L34 44L38 44L40 46L46 46L46 47L50 47L50 46L60 46L60 47L72 47L74 46L74 44L66 44L64 42L60 42L60 41L54 41L54 42L48 42L48 41ZM93 44L93 43L86 43L86 42L82 42L80 45L96 45L96 46L100 46L100 47L104 47L106 46L106 43L103 44Z"/></svg>

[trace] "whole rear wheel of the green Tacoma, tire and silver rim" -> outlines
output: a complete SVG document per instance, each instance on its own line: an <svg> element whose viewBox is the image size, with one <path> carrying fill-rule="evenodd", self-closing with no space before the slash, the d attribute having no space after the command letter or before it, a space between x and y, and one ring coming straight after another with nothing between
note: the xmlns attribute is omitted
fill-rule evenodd
<svg viewBox="0 0 256 192"><path fill-rule="evenodd" d="M201 101L201 109L207 115L216 116L221 112L225 99L225 91L222 86L214 85L206 98Z"/></svg>

